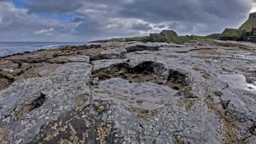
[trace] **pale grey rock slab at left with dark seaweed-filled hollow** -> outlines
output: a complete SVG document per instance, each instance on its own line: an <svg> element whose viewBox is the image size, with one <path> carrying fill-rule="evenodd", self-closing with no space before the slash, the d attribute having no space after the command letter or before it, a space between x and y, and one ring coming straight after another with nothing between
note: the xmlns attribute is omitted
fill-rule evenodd
<svg viewBox="0 0 256 144"><path fill-rule="evenodd" d="M43 126L75 109L76 98L89 96L91 65L68 63L48 77L17 80L0 92L0 127L8 143L29 143Z"/></svg>

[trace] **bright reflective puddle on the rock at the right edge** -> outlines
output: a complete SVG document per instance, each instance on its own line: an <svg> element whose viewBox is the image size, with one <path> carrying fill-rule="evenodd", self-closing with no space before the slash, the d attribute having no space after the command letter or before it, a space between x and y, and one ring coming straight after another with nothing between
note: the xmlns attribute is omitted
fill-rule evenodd
<svg viewBox="0 0 256 144"><path fill-rule="evenodd" d="M219 79L228 83L233 88L242 88L247 91L256 91L256 77L243 74L223 74Z"/></svg>

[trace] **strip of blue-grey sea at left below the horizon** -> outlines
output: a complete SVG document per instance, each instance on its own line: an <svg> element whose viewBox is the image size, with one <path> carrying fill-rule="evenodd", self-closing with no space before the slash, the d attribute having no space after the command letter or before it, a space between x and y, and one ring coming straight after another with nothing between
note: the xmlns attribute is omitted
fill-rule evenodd
<svg viewBox="0 0 256 144"><path fill-rule="evenodd" d="M0 56L39 49L58 48L62 45L91 45L93 43L59 43L59 42L0 42Z"/></svg>

